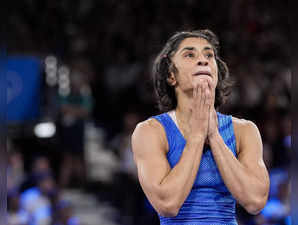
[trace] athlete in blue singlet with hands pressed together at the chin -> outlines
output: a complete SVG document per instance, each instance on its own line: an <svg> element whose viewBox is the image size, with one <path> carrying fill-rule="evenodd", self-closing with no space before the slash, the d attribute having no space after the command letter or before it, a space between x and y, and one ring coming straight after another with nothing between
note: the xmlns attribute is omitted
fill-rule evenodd
<svg viewBox="0 0 298 225"><path fill-rule="evenodd" d="M174 34L153 66L162 114L139 123L132 151L161 225L236 225L235 203L258 214L268 172L256 125L219 113L230 83L210 30Z"/></svg>

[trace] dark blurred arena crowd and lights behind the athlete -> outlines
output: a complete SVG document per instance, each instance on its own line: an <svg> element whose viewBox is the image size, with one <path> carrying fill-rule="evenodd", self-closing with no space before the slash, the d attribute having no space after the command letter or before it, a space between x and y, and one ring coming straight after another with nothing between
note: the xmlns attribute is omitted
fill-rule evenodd
<svg viewBox="0 0 298 225"><path fill-rule="evenodd" d="M6 19L9 225L157 225L137 181L135 125L158 114L154 57L176 31L211 29L236 85L221 112L254 121L270 173L257 216L289 225L291 71L285 3L23 0Z"/></svg>

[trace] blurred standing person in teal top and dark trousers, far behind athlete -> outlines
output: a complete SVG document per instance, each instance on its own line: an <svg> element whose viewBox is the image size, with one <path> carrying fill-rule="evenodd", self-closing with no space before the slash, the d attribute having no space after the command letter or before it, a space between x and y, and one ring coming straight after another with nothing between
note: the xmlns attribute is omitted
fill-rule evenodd
<svg viewBox="0 0 298 225"><path fill-rule="evenodd" d="M66 188L73 177L77 185L85 182L84 124L92 111L92 96L83 75L74 71L71 92L60 94L60 135L63 159L60 168L59 186Z"/></svg>

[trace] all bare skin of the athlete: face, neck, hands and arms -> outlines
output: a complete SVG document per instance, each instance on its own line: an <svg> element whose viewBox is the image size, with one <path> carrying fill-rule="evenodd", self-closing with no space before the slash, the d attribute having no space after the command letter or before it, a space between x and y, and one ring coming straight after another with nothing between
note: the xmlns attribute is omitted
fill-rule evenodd
<svg viewBox="0 0 298 225"><path fill-rule="evenodd" d="M169 146L162 125L148 119L136 126L132 151L147 198L162 216L176 216L194 184L204 143L209 142L231 194L249 213L259 213L269 192L262 140L255 124L233 117L237 159L220 136L214 108L218 68L212 46L205 39L186 38L172 62L178 72L171 72L168 83L175 88L177 123L186 145L179 162L171 168L166 158ZM198 71L207 70L209 75L194 76Z"/></svg>

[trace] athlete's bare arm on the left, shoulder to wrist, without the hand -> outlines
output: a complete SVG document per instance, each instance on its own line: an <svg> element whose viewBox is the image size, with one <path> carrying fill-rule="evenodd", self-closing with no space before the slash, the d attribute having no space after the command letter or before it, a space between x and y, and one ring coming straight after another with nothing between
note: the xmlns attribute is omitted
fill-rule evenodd
<svg viewBox="0 0 298 225"><path fill-rule="evenodd" d="M132 136L132 149L139 181L147 198L160 215L171 217L178 214L193 186L204 139L188 141L179 162L171 169L162 129L153 120L139 124Z"/></svg>

